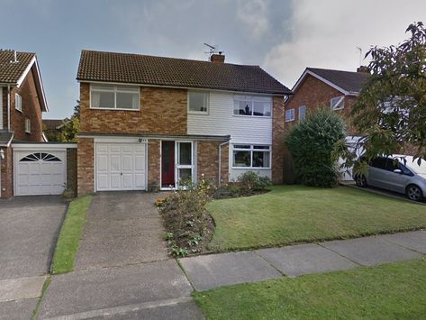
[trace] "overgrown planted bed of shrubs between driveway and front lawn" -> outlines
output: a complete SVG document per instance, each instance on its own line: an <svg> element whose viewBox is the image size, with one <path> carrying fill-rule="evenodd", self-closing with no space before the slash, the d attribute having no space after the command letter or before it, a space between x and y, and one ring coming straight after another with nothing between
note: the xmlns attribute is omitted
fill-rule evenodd
<svg viewBox="0 0 426 320"><path fill-rule="evenodd" d="M172 255L185 257L188 253L203 251L210 242L214 224L205 206L211 200L211 188L204 179L199 184L186 181L155 204L163 216L165 239Z"/></svg>

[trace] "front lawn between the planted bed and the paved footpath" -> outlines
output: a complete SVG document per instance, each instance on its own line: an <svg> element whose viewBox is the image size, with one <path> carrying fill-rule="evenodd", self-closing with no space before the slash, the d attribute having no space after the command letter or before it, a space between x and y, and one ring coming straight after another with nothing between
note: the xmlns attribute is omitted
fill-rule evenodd
<svg viewBox="0 0 426 320"><path fill-rule="evenodd" d="M426 227L426 206L352 187L276 186L254 196L216 200L210 249L241 250L344 239Z"/></svg>

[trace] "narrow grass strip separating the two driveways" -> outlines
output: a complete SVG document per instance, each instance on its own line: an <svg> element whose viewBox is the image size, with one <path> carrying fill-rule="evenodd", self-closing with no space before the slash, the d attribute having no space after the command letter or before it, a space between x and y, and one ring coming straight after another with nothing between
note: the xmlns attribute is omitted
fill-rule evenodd
<svg viewBox="0 0 426 320"><path fill-rule="evenodd" d="M78 242L86 224L87 210L91 196L78 197L68 207L64 224L59 233L58 243L53 254L51 271L53 274L70 272L78 251Z"/></svg>

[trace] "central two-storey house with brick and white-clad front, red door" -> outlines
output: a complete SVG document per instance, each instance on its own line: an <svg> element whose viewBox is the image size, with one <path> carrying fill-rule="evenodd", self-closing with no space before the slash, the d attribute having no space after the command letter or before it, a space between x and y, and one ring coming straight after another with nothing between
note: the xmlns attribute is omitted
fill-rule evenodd
<svg viewBox="0 0 426 320"><path fill-rule="evenodd" d="M215 184L254 170L283 181L284 98L258 66L82 50L78 194Z"/></svg>

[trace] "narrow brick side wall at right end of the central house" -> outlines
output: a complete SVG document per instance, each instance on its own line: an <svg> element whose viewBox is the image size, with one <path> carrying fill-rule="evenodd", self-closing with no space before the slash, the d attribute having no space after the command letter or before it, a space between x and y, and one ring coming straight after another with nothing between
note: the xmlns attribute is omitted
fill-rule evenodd
<svg viewBox="0 0 426 320"><path fill-rule="evenodd" d="M284 100L280 96L273 98L272 118L272 182L283 183L284 171Z"/></svg>

